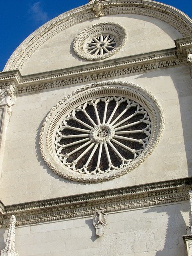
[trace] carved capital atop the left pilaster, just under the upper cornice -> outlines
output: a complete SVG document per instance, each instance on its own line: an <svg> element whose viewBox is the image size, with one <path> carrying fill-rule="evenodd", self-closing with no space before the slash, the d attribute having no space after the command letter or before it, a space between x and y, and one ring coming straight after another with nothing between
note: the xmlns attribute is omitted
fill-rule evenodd
<svg viewBox="0 0 192 256"><path fill-rule="evenodd" d="M8 107L11 107L14 105L14 91L15 89L12 85L6 87L5 89L0 89L0 106L7 105Z"/></svg>

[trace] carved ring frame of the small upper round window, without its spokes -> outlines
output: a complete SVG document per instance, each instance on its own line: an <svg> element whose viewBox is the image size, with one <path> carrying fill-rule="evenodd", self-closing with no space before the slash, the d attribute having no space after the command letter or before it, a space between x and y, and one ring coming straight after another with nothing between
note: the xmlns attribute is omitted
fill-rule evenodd
<svg viewBox="0 0 192 256"><path fill-rule="evenodd" d="M87 47L92 38L108 34L116 39L116 46L113 50L102 55L92 55L88 52ZM74 52L84 60L103 60L116 54L123 48L127 39L127 32L120 24L114 22L97 23L84 29L74 40Z"/></svg>

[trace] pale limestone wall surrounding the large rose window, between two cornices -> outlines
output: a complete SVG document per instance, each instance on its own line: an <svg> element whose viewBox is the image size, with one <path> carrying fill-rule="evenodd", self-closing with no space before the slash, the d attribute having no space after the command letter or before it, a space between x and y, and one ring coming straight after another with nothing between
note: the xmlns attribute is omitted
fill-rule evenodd
<svg viewBox="0 0 192 256"><path fill-rule="evenodd" d="M163 137L150 157L120 178L97 184L65 180L44 164L39 131L48 111L79 86L17 96L8 124L0 195L16 204L191 176L192 88L187 66L122 77L148 89L164 109Z"/></svg>

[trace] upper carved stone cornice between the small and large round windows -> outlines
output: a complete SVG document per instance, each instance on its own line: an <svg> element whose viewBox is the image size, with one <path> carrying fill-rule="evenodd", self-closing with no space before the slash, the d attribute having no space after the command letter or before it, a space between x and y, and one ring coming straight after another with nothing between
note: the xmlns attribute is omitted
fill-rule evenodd
<svg viewBox="0 0 192 256"><path fill-rule="evenodd" d="M187 65L187 56L171 48L27 76L19 70L2 72L0 89L12 85L15 94L31 93L181 65Z"/></svg>

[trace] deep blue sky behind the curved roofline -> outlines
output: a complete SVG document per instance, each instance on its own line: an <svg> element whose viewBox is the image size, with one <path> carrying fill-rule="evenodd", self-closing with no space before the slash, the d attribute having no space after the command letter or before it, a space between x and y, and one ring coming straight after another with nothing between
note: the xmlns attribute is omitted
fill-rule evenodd
<svg viewBox="0 0 192 256"><path fill-rule="evenodd" d="M164 0L192 17L191 0ZM88 3L88 0L1 1L0 70L19 44L42 24L59 14Z"/></svg>

